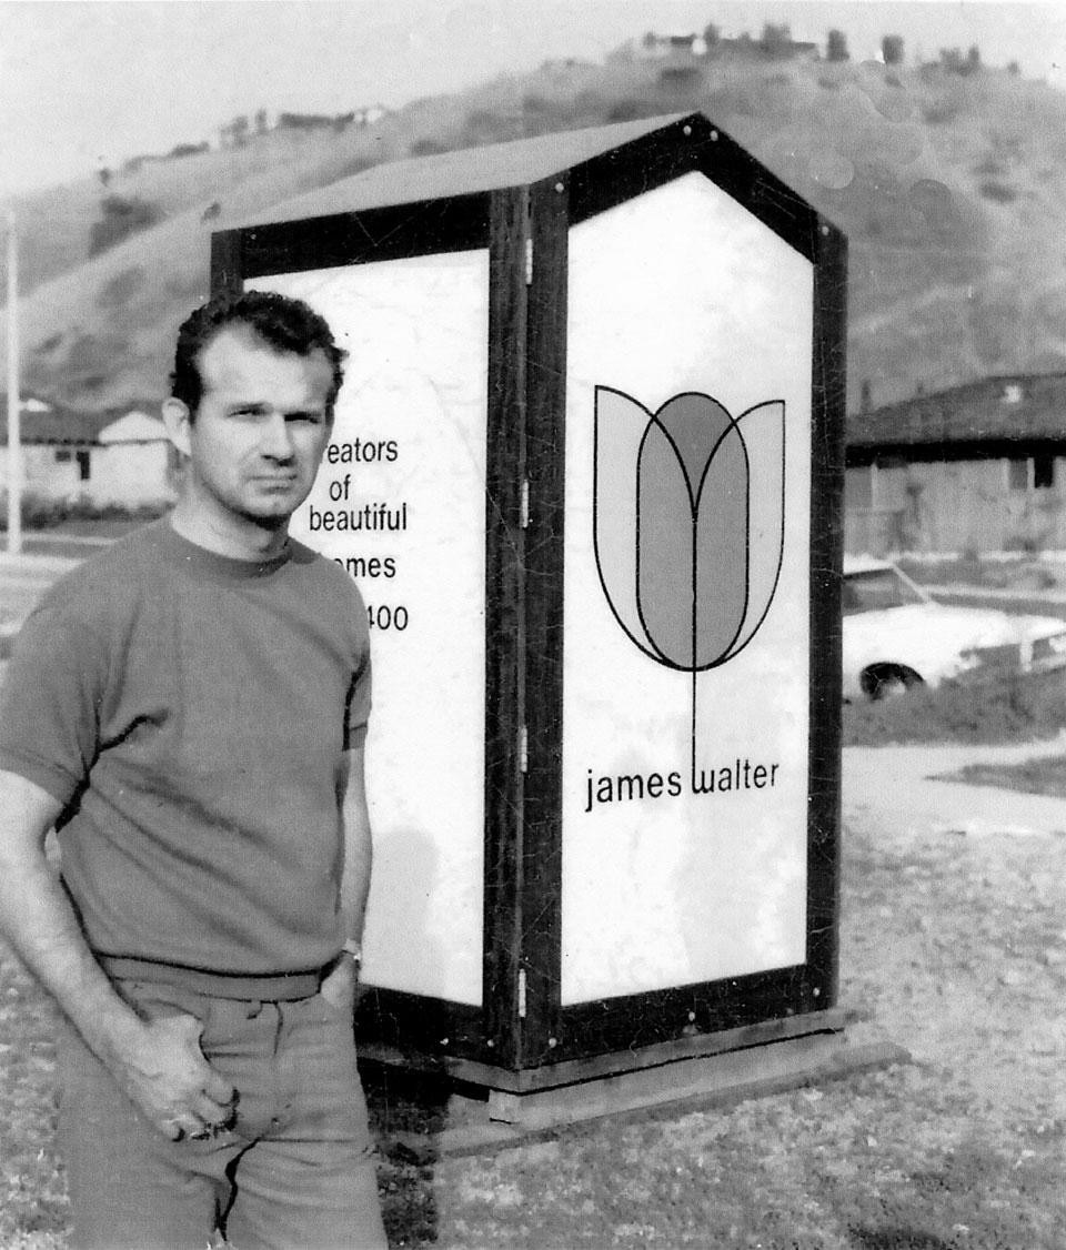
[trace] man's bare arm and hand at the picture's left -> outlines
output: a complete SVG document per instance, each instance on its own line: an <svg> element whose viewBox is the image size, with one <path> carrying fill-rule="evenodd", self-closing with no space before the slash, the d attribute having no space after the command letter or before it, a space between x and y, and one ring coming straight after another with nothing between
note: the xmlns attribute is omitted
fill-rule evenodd
<svg viewBox="0 0 1066 1250"><path fill-rule="evenodd" d="M0 771L0 930L90 1050L155 1126L192 1136L230 1115L234 1090L204 1059L200 1022L145 1022L111 988L45 856L61 805Z"/></svg>

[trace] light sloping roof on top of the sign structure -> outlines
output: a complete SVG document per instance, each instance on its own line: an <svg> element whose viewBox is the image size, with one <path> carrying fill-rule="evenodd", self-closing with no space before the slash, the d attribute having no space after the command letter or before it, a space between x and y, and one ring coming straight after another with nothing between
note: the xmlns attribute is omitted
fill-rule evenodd
<svg viewBox="0 0 1066 1250"><path fill-rule="evenodd" d="M257 225L262 220L300 221L335 212L361 212L394 204L525 186L662 130L684 116L686 114L675 112L611 126L589 126L584 130L565 130L534 139L515 139L505 144L389 161L272 205L265 216L260 212L256 221L246 220L232 225Z"/></svg>

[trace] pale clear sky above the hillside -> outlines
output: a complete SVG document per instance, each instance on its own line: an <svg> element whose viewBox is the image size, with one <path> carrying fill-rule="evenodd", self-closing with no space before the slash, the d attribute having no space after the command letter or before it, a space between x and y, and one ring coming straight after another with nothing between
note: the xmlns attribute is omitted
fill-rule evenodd
<svg viewBox="0 0 1066 1250"><path fill-rule="evenodd" d="M346 112L461 90L646 30L787 22L852 60L900 34L1066 90L1066 5L996 0L0 0L0 196L214 140L240 114Z"/></svg>

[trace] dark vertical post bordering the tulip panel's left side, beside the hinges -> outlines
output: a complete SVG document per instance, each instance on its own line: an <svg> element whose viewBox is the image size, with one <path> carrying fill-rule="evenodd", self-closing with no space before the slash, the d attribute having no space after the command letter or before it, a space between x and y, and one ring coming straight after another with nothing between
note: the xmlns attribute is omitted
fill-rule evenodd
<svg viewBox="0 0 1066 1250"><path fill-rule="evenodd" d="M521 1068L547 1061L557 1029L562 951L562 565L566 452L569 180L530 189L532 271L526 329L526 638Z"/></svg>

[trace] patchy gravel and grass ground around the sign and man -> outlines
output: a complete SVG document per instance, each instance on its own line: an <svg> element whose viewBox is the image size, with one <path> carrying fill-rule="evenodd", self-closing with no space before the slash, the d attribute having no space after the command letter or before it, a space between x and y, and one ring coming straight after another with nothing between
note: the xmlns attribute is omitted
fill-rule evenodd
<svg viewBox="0 0 1066 1250"><path fill-rule="evenodd" d="M846 752L842 1002L914 1062L470 1156L382 1158L394 1245L1066 1246L1066 836L894 816ZM0 1245L66 1245L50 1011L0 961Z"/></svg>

